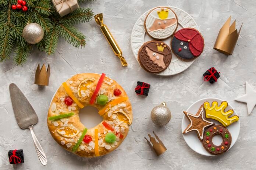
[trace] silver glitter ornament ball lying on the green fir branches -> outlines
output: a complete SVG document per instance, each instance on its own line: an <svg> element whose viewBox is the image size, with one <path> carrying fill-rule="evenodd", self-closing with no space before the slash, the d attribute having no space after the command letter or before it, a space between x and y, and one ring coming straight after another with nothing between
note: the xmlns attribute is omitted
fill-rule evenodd
<svg viewBox="0 0 256 170"><path fill-rule="evenodd" d="M22 36L29 44L36 44L43 39L43 28L37 23L29 23L24 27Z"/></svg>

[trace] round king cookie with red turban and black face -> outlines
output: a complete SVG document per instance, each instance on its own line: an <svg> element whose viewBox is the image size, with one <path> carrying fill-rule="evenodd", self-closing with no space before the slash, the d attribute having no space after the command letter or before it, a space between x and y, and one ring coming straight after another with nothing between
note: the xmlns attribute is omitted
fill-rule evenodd
<svg viewBox="0 0 256 170"><path fill-rule="evenodd" d="M193 28L178 30L171 40L171 50L179 59L185 61L197 58L203 52L204 46L202 35Z"/></svg>

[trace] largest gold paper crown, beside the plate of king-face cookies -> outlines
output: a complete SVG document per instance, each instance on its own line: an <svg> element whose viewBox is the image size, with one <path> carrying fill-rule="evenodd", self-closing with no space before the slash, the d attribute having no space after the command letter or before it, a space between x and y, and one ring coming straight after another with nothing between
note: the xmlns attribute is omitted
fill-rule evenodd
<svg viewBox="0 0 256 170"><path fill-rule="evenodd" d="M239 32L237 33L237 29L235 29L235 21L231 24L231 26L230 21L231 16L221 27L213 47L213 49L224 53L225 55L232 55L243 25L241 25Z"/></svg>

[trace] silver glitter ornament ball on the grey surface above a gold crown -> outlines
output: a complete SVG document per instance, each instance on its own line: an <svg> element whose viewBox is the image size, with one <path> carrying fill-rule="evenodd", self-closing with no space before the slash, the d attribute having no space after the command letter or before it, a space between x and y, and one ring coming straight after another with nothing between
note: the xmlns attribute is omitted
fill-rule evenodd
<svg viewBox="0 0 256 170"><path fill-rule="evenodd" d="M152 109L150 117L153 123L163 126L170 122L171 111L166 106L166 103L161 103L160 106L156 106Z"/></svg>

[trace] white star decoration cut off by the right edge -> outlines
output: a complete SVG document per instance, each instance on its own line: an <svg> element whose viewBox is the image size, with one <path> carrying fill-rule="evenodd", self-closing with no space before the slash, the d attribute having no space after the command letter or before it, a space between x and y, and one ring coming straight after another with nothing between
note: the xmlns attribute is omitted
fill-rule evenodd
<svg viewBox="0 0 256 170"><path fill-rule="evenodd" d="M246 81L246 94L237 97L235 100L241 101L247 104L248 115L252 113L254 106L256 105L256 91Z"/></svg>

